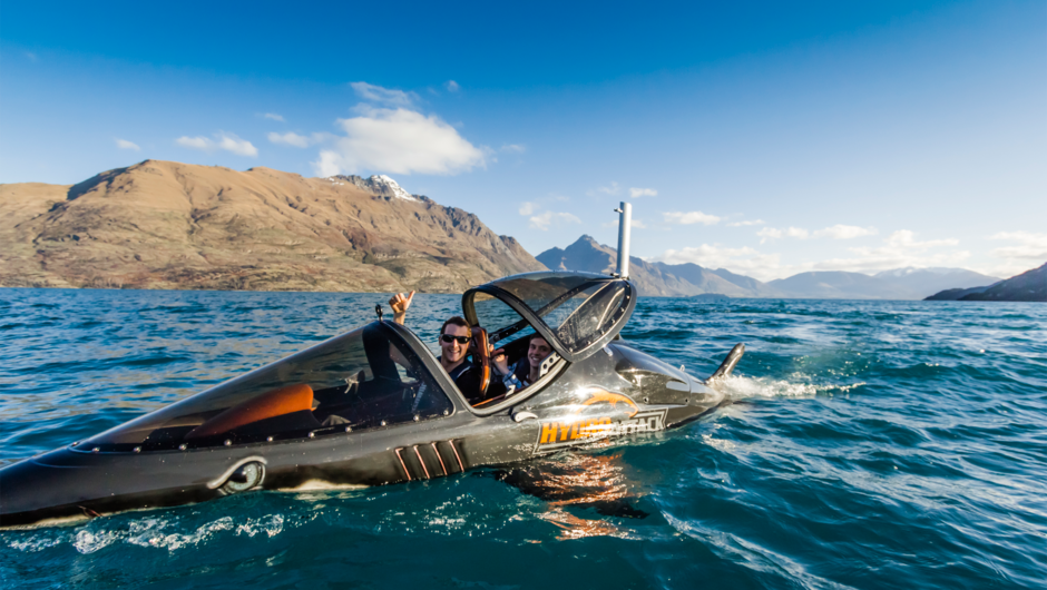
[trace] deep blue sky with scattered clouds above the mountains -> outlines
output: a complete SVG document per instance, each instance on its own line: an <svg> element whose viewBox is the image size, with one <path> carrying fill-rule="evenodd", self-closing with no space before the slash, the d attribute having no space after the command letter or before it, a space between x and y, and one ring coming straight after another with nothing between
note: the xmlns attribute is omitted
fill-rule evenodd
<svg viewBox="0 0 1047 590"><path fill-rule="evenodd" d="M0 183L389 174L535 254L626 198L634 254L760 278L1047 260L1040 1L11 4Z"/></svg>

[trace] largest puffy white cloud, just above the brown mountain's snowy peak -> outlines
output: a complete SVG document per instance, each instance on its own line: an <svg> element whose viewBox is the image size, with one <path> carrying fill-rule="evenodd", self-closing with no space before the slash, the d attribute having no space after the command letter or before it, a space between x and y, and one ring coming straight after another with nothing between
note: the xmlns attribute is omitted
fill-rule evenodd
<svg viewBox="0 0 1047 590"><path fill-rule="evenodd" d="M343 170L453 175L487 165L490 150L473 146L436 115L364 105L356 111L359 117L337 120L345 136L313 163L321 176Z"/></svg>

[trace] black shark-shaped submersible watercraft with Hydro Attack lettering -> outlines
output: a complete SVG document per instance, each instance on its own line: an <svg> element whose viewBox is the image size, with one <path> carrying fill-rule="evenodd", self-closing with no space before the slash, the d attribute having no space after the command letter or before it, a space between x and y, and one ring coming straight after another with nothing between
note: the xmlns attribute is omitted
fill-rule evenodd
<svg viewBox="0 0 1047 590"><path fill-rule="evenodd" d="M723 402L712 385L744 347L699 380L620 340L636 288L628 278L628 204L619 214L614 275L527 273L462 296L466 319L487 331L477 337L505 348L510 361L526 354L526 334L551 345L530 386L470 404L413 332L380 316L0 470L0 527L253 490L438 479L696 420Z"/></svg>

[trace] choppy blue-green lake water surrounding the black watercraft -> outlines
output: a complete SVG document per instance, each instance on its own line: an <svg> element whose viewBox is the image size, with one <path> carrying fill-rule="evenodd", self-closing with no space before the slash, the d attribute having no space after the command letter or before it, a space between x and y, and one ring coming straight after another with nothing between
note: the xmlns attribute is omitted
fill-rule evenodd
<svg viewBox="0 0 1047 590"><path fill-rule="evenodd" d="M369 322L381 294L0 289L0 465ZM419 295L434 341L460 298ZM0 531L10 588L1043 588L1047 305L642 299L741 403L594 450L644 519L479 471ZM570 465L579 459L561 455Z"/></svg>

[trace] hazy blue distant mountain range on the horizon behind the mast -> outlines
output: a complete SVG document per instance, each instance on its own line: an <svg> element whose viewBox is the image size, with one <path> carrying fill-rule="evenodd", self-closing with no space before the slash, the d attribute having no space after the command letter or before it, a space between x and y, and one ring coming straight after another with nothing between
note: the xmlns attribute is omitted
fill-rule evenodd
<svg viewBox="0 0 1047 590"><path fill-rule="evenodd" d="M538 262L554 269L610 273L617 252L581 236L567 248L550 248ZM975 287L999 279L962 268L898 268L869 276L861 273L811 272L763 283L724 268L696 264L648 263L629 257L630 275L640 294L688 297L721 294L728 297L781 297L812 299L922 299L946 287Z"/></svg>

